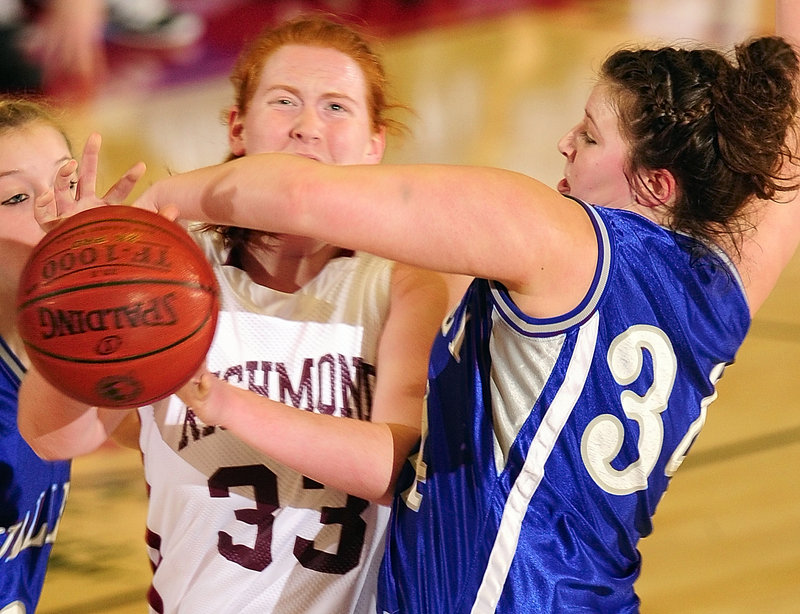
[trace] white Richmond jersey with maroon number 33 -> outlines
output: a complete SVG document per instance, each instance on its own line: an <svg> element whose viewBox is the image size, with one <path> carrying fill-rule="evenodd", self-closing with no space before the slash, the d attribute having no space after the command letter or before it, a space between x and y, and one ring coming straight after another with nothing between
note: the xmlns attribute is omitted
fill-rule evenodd
<svg viewBox="0 0 800 614"><path fill-rule="evenodd" d="M221 291L209 370L298 411L369 420L391 262L337 258L286 294L223 264L215 233L198 241ZM305 478L175 396L140 416L151 612L375 611L387 507Z"/></svg>

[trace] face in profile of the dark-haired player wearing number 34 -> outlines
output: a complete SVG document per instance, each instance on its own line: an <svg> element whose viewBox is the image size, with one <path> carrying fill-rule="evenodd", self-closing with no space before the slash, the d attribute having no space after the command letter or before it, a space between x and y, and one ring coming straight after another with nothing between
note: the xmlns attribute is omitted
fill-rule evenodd
<svg viewBox="0 0 800 614"><path fill-rule="evenodd" d="M595 205L629 209L634 204L624 172L628 147L605 87L592 90L583 119L561 138L558 150L567 159L559 192Z"/></svg>

